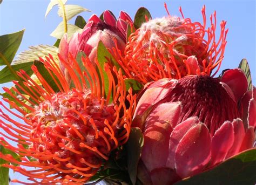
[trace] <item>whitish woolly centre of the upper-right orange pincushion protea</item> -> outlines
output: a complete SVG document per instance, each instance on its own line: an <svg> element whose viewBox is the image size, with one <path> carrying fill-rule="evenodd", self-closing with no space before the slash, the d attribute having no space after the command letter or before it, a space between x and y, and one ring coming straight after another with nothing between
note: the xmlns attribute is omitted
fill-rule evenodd
<svg viewBox="0 0 256 185"><path fill-rule="evenodd" d="M148 58L152 61L152 48L158 53L158 62L165 59L170 60L171 56L183 64L184 56L196 56L201 63L206 57L204 52L206 44L201 40L199 33L194 33L191 25L183 26L183 20L179 17L167 16L149 20L144 23L138 32L134 44L141 47L144 52L138 52L138 57ZM172 43L172 45L168 45ZM184 64L185 65L185 64ZM175 68L174 64L172 67ZM166 66L164 68L167 70Z"/></svg>

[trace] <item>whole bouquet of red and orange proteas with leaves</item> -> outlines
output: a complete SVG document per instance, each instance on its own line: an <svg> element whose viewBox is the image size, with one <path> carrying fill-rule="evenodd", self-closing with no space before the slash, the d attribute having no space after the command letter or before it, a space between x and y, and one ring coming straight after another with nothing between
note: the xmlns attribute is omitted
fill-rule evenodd
<svg viewBox="0 0 256 185"><path fill-rule="evenodd" d="M55 5L54 46L12 61L24 30L0 36L0 184L256 183L256 90L246 59L219 73L215 11L210 24L205 6L200 23L164 4L162 18L105 10L72 25L90 10L51 1L46 16Z"/></svg>

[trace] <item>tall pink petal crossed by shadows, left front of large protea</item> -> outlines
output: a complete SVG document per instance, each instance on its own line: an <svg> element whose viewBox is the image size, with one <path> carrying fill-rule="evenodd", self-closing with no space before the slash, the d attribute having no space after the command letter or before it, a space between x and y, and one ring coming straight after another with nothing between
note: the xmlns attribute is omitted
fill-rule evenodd
<svg viewBox="0 0 256 185"><path fill-rule="evenodd" d="M153 109L146 119L142 160L149 171L166 165L170 135L180 111L180 102L168 102Z"/></svg>

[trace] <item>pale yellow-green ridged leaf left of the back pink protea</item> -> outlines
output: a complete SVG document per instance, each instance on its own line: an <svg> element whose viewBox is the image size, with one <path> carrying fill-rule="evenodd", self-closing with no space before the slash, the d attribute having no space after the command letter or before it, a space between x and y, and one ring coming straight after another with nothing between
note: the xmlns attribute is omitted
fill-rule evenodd
<svg viewBox="0 0 256 185"><path fill-rule="evenodd" d="M17 59L12 61L12 64L23 64L31 61L38 60L39 57L45 59L45 56L49 56L49 53L58 61L58 48L50 45L36 45L29 46L29 50L25 50L18 54Z"/></svg>

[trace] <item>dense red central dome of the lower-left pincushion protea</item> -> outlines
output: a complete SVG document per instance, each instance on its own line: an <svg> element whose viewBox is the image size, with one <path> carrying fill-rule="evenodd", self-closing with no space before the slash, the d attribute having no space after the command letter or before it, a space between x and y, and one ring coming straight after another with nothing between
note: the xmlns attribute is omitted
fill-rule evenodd
<svg viewBox="0 0 256 185"><path fill-rule="evenodd" d="M114 147L113 139L104 136L104 128L116 119L114 106L103 103L93 99L90 91L72 90L54 94L36 107L29 115L35 140L30 147L52 157L39 162L66 169L66 174L77 173L74 166L82 170L100 166Z"/></svg>

